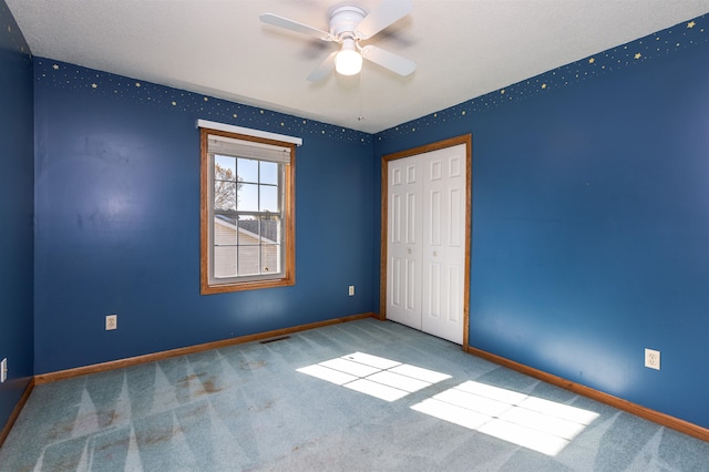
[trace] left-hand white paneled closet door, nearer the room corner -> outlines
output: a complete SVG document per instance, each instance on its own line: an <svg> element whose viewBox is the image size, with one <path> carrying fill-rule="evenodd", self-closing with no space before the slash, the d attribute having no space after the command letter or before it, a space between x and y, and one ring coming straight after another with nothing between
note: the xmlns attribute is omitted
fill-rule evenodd
<svg viewBox="0 0 709 472"><path fill-rule="evenodd" d="M421 329L421 171L412 157L389 164L387 317Z"/></svg>

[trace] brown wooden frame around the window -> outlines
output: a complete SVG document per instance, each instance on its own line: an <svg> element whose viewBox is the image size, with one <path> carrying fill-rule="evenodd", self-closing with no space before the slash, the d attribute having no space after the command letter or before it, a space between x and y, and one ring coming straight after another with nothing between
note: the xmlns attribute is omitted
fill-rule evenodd
<svg viewBox="0 0 709 472"><path fill-rule="evenodd" d="M230 280L224 284L210 283L210 227L214 222L209 222L209 209L212 202L210 195L213 179L213 168L209 166L209 153L207 148L207 136L218 135L254 143L270 144L290 148L290 164L285 165L284 172L284 260L282 270L274 278L263 278L258 280ZM261 288L287 287L296 284L296 204L295 204L295 177L296 177L296 145L281 141L269 140L258 136L249 136L239 133L232 133L220 130L207 127L199 129L199 147L201 147L201 192L199 192L199 279L202 295L225 294L232 291L256 290Z"/></svg>

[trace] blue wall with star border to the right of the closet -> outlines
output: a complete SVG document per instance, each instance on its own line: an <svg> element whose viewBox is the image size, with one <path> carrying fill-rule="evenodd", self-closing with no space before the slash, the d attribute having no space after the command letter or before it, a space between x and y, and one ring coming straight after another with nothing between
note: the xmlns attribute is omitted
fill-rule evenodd
<svg viewBox="0 0 709 472"><path fill-rule="evenodd" d="M709 21L692 23L374 143L379 165L473 134L471 346L709 428Z"/></svg>

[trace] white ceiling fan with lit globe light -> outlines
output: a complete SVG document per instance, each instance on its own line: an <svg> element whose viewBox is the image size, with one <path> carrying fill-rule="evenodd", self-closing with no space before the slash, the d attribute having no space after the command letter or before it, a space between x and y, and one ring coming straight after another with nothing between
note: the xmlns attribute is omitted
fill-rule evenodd
<svg viewBox="0 0 709 472"><path fill-rule="evenodd" d="M389 25L411 12L411 0L382 0L371 12L354 6L340 6L330 10L329 31L309 27L274 13L264 13L259 18L264 23L285 28L302 34L340 44L340 49L328 55L318 68L308 75L311 82L328 76L332 70L342 75L354 75L362 68L362 58L399 75L410 75L417 64L405 58L386 51L373 44L360 45Z"/></svg>

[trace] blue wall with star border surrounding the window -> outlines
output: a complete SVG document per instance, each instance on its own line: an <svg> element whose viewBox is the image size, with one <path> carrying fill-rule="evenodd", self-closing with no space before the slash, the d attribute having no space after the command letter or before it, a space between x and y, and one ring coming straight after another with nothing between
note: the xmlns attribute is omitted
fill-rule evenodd
<svg viewBox="0 0 709 472"><path fill-rule="evenodd" d="M35 373L372 310L371 135L48 59L34 76ZM199 295L198 117L304 138L294 287Z"/></svg>

